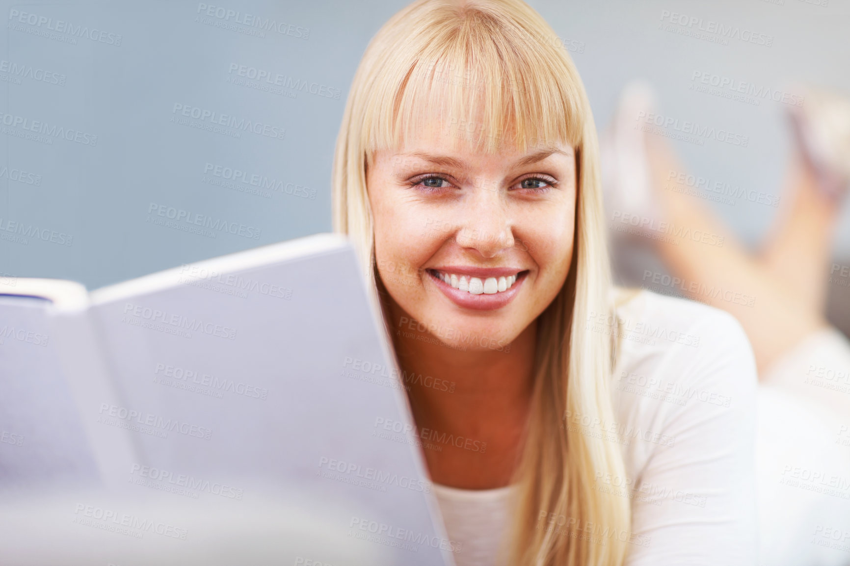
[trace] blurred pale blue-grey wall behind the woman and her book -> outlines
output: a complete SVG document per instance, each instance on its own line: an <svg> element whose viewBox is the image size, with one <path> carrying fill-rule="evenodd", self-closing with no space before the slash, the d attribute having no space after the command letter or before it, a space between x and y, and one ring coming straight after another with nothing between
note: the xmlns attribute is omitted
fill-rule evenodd
<svg viewBox="0 0 850 566"><path fill-rule="evenodd" d="M407 1L3 4L0 275L91 289L330 231L348 87L366 43ZM850 93L850 0L530 4L570 50L598 127L623 85L645 77L666 116L747 136L747 147L672 142L712 181L779 195L787 105L698 92L694 76ZM673 13L769 45L692 37ZM712 206L751 246L778 212L745 199ZM163 224L169 213L179 218ZM225 223L235 234L208 228ZM850 263L850 207L834 255ZM830 292L830 316L847 328L850 290Z"/></svg>

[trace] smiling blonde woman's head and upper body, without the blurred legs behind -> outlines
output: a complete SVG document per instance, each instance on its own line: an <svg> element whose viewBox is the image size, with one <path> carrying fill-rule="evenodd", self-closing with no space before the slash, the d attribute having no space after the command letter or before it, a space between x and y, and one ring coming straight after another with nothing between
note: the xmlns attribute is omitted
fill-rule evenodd
<svg viewBox="0 0 850 566"><path fill-rule="evenodd" d="M751 348L718 309L611 290L598 169L520 0L420 0L366 49L334 229L400 368L454 383L408 399L456 562L754 563Z"/></svg>

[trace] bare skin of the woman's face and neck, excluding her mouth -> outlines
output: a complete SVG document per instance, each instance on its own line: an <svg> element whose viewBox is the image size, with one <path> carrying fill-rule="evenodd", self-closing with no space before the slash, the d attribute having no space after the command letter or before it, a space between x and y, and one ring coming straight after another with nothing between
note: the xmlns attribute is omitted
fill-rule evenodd
<svg viewBox="0 0 850 566"><path fill-rule="evenodd" d="M410 386L417 427L479 442L478 450L469 443L426 447L433 481L486 489L507 484L515 467L528 416L536 318L570 270L575 153L560 144L565 154L517 167L541 148L520 153L508 147L488 156L463 144L452 147L446 136L434 133L399 150L378 151L366 185L399 363L405 371L455 383L452 393ZM448 156L462 167L436 165L414 152ZM439 178L425 180L429 175ZM474 310L445 297L425 271L445 265L528 274L510 303ZM399 325L402 317L436 330L411 331ZM506 352L500 346L507 344Z"/></svg>

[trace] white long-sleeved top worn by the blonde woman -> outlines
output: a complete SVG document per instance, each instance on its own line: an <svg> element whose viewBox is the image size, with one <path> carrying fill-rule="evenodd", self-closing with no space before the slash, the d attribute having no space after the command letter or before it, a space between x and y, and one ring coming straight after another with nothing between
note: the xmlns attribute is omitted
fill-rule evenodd
<svg viewBox="0 0 850 566"><path fill-rule="evenodd" d="M599 473L593 487L631 500L626 566L757 563L757 372L745 332L717 308L650 291L617 312L616 422L597 428L620 433L626 478ZM586 329L613 326L603 315ZM457 566L503 564L513 486L434 490L463 545Z"/></svg>

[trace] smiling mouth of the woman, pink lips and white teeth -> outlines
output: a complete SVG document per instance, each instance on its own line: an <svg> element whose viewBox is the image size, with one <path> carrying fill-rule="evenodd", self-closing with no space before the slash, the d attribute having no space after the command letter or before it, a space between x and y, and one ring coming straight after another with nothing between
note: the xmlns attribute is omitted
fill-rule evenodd
<svg viewBox="0 0 850 566"><path fill-rule="evenodd" d="M509 303L528 271L511 268L427 269L428 275L452 302L464 308L491 310Z"/></svg>

